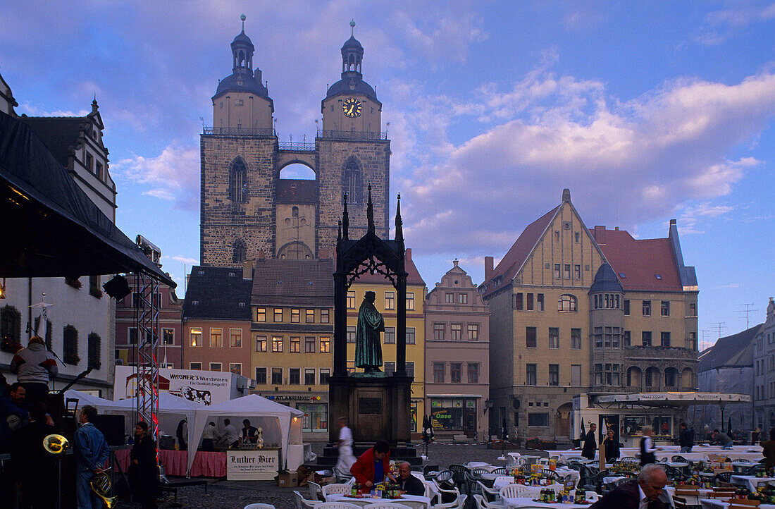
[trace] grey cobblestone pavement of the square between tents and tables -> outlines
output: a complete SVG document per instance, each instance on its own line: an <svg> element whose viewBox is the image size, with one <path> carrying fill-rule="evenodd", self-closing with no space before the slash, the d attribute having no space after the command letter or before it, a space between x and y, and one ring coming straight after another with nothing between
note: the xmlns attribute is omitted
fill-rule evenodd
<svg viewBox="0 0 775 509"><path fill-rule="evenodd" d="M313 443L312 450L321 453L325 444ZM418 454L420 450L418 448ZM546 452L532 449L518 449L516 452L546 456ZM433 444L425 465L460 465L470 461L483 461L493 465L505 464L498 460L501 449L488 449L487 445ZM307 487L281 488L274 481L227 481L208 480L205 495L204 486L186 486L177 491L177 502L191 509L242 509L247 504L261 502L272 504L277 509L294 509L294 490L308 497ZM170 499L171 502L171 499ZM169 502L160 502L160 508L172 507ZM119 509L140 509L140 504L122 502Z"/></svg>

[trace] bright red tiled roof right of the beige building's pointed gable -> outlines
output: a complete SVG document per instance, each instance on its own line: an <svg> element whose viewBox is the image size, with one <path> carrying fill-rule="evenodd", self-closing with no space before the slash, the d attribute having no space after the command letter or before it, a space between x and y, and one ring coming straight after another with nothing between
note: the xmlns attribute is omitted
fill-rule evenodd
<svg viewBox="0 0 775 509"><path fill-rule="evenodd" d="M589 232L594 237L594 229ZM598 241L598 245L625 291L683 291L670 239L636 240L625 230L605 230L605 244Z"/></svg>

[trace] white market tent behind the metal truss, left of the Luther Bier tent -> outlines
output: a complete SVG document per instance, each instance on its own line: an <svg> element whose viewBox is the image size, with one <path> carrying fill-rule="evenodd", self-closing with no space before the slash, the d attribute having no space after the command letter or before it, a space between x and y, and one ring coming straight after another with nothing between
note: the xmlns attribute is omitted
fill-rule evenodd
<svg viewBox="0 0 775 509"><path fill-rule="evenodd" d="M100 414L111 415L123 415L124 419L124 433L127 435L133 435L135 423L132 422L132 416L134 413L135 400L104 400L101 397L91 396L90 394L81 393L77 390L67 390L64 393L66 399L78 400L78 408L83 408L84 405L91 405L95 407ZM196 410L204 408L204 405L194 403L184 398L173 396L170 393L159 393L159 425L160 428L168 435L175 435L177 431L177 423L181 419L185 418L188 421L188 435L192 436L191 429L194 428L196 422ZM191 440L189 439L189 442Z"/></svg>

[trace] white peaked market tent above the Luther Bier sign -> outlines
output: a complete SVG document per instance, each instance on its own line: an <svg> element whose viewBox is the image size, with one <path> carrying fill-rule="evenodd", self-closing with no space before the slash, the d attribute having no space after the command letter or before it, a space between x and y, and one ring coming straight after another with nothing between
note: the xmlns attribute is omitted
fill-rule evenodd
<svg viewBox="0 0 775 509"><path fill-rule="evenodd" d="M288 445L301 444L301 417L303 416L304 412L301 410L286 407L257 394L250 394L209 407L198 407L196 424L191 426L191 421L188 421L188 433L189 437L193 438L191 444L198 445L205 426L215 417L236 419L233 424L238 428L243 418L250 419L250 424L263 428L264 441L280 445L280 465L284 466L288 458ZM194 455L188 455L188 473L191 473L193 463Z"/></svg>

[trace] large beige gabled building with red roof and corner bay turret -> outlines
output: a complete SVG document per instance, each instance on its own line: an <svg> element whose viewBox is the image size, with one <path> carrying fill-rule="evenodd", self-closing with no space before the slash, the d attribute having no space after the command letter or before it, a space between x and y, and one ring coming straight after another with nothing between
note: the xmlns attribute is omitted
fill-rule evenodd
<svg viewBox="0 0 775 509"><path fill-rule="evenodd" d="M697 386L698 284L675 220L657 239L588 229L565 189L498 266L485 258L484 279L491 429L505 421L519 438L567 440L580 429L570 422L575 394Z"/></svg>

